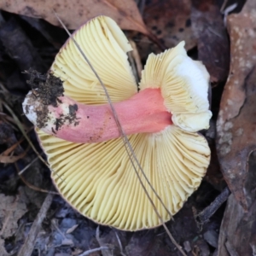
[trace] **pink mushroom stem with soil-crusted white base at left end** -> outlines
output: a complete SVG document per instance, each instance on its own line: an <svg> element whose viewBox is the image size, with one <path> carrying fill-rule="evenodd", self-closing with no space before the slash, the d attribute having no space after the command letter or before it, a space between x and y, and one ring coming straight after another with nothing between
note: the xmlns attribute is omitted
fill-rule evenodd
<svg viewBox="0 0 256 256"><path fill-rule="evenodd" d="M127 135L163 131L172 125L172 114L164 106L160 89L145 89L130 99L113 103ZM44 132L73 143L100 143L120 137L108 104L84 105L60 96L57 106L45 105L30 92L23 103L24 113Z"/></svg>

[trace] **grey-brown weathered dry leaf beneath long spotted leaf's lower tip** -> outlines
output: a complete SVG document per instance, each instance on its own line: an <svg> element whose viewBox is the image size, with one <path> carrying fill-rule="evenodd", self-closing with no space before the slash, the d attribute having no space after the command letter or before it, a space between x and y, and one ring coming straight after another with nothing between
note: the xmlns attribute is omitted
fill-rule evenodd
<svg viewBox="0 0 256 256"><path fill-rule="evenodd" d="M219 231L218 256L230 256L236 253L242 256L255 255L253 247L256 247L256 152L251 154L248 166L249 178L246 189L251 192L253 204L246 212L234 195L230 195Z"/></svg>

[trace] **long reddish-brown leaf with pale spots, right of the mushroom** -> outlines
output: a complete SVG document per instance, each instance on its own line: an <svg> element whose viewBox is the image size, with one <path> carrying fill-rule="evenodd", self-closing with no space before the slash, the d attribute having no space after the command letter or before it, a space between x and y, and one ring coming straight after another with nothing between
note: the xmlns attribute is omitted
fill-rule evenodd
<svg viewBox="0 0 256 256"><path fill-rule="evenodd" d="M245 209L247 159L256 149L256 2L248 0L240 14L230 15L230 74L217 123L218 157L230 190ZM253 181L252 181L253 182Z"/></svg>

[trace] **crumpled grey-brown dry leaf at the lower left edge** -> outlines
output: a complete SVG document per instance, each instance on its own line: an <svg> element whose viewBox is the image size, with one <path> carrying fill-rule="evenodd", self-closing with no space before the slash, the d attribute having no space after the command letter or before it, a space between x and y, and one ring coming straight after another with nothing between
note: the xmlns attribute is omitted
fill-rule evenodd
<svg viewBox="0 0 256 256"><path fill-rule="evenodd" d="M18 230L17 221L26 213L26 204L20 197L0 194L0 221L2 230L0 236L7 238L13 236Z"/></svg>

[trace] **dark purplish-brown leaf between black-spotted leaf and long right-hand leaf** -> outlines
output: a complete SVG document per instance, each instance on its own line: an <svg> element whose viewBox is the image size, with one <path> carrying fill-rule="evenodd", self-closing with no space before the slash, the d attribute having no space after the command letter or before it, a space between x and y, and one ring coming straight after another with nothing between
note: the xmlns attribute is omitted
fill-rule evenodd
<svg viewBox="0 0 256 256"><path fill-rule="evenodd" d="M193 0L192 29L198 39L198 58L207 67L211 82L224 82L230 66L230 43L215 0Z"/></svg>

